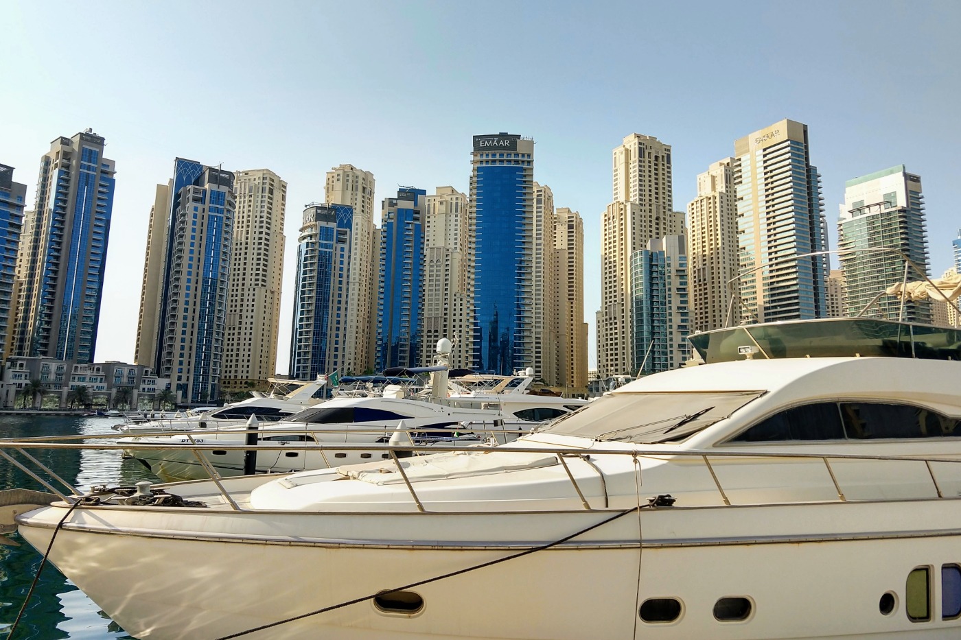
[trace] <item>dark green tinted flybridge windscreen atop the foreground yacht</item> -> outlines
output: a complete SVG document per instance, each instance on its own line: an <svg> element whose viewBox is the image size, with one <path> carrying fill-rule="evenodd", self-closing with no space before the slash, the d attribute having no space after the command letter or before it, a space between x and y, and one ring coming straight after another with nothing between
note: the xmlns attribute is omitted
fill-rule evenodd
<svg viewBox="0 0 961 640"><path fill-rule="evenodd" d="M780 357L920 357L961 360L961 329L878 318L770 322L695 333L705 363Z"/></svg>

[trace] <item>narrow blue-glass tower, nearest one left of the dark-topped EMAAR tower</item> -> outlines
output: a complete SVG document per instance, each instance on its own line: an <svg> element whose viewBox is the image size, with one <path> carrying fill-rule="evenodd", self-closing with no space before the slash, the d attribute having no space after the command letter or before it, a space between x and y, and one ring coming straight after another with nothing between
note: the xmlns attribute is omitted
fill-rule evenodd
<svg viewBox="0 0 961 640"><path fill-rule="evenodd" d="M381 268L377 296L377 365L413 367L422 363L424 317L424 215L427 191L397 189L383 201Z"/></svg>

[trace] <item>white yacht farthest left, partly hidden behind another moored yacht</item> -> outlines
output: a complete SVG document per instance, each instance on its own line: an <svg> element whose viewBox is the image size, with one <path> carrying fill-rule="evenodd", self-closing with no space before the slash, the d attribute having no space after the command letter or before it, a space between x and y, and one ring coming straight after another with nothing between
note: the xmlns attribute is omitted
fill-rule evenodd
<svg viewBox="0 0 961 640"><path fill-rule="evenodd" d="M157 420L128 420L113 426L114 431L123 433L161 433L164 431L194 431L199 429L221 429L233 425L243 425L250 417L257 416L261 422L275 422L291 416L307 406L323 401L323 390L327 385L326 376L318 376L313 381L290 381L271 379L274 391L269 394L255 392L252 398L238 403L216 407L193 409L174 417ZM290 388L290 387L293 388ZM286 393L279 388L290 388Z"/></svg>

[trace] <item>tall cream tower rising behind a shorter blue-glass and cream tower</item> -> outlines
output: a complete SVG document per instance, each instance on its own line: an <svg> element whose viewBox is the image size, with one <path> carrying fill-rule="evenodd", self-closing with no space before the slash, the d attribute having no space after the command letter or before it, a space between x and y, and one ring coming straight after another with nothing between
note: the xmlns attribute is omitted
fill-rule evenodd
<svg viewBox="0 0 961 640"><path fill-rule="evenodd" d="M374 174L353 164L341 164L327 172L327 204L354 208L351 258L347 279L347 331L344 339L344 371L362 374L374 368L377 323L377 265L380 248L375 242Z"/></svg>

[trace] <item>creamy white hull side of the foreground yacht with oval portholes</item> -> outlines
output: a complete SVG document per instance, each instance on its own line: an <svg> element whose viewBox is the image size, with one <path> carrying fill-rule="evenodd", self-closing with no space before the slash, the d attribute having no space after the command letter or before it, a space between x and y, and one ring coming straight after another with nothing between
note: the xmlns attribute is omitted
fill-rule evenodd
<svg viewBox="0 0 961 640"><path fill-rule="evenodd" d="M659 508L640 519L628 513L558 547L412 587L424 599L412 615L365 601L244 637L957 637L961 621L942 620L939 590L941 567L961 562L955 506ZM28 514L20 532L45 549L64 512ZM145 516L141 508L82 507L58 534L51 559L136 637L219 638L504 558L614 513L238 516L160 509ZM931 522L941 529L925 530ZM636 544L639 528L643 547ZM798 534L781 534L789 529ZM908 619L904 602L905 580L920 566L932 569L930 620L923 623ZM879 600L887 592L896 603L884 615ZM726 597L750 600L750 616L718 622L713 607ZM677 599L678 620L641 621L638 606L651 598Z"/></svg>

